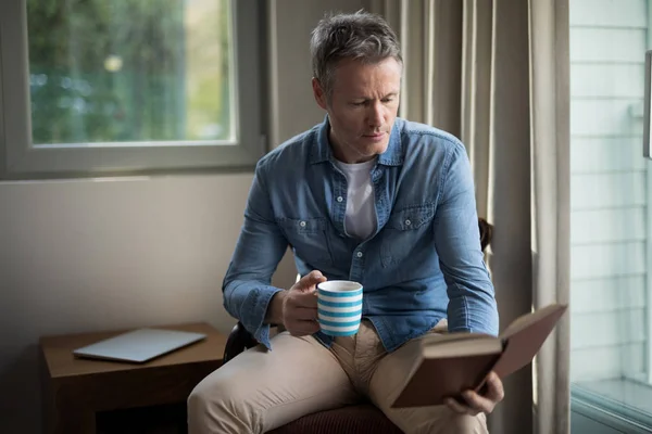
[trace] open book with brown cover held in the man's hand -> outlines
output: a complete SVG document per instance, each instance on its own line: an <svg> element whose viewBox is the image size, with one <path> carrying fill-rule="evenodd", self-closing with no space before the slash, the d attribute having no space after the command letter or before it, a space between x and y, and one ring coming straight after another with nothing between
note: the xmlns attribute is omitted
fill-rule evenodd
<svg viewBox="0 0 652 434"><path fill-rule="evenodd" d="M528 365L567 305L552 304L515 319L500 336L429 334L421 346L393 408L437 406L462 392L479 392L490 371L501 379Z"/></svg>

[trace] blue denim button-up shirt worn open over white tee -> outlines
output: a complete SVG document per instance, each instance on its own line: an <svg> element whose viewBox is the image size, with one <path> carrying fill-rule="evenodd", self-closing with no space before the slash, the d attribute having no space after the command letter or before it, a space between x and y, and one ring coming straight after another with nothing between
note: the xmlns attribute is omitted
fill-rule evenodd
<svg viewBox="0 0 652 434"><path fill-rule="evenodd" d="M475 189L464 145L397 118L372 168L377 216L366 240L344 230L347 180L323 124L263 156L224 279L224 306L271 348L264 323L272 275L288 244L301 276L362 283L362 315L387 352L442 318L451 332L498 334L494 290L480 248ZM324 345L333 337L315 333ZM272 349L272 348L271 348Z"/></svg>

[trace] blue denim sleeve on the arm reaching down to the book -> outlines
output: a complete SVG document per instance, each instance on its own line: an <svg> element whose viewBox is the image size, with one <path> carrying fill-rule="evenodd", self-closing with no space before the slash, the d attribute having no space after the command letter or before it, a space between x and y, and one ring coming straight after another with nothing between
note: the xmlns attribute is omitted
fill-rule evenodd
<svg viewBox="0 0 652 434"><path fill-rule="evenodd" d="M494 289L480 247L473 174L462 143L451 148L447 166L435 216L435 245L447 283L449 331L497 335Z"/></svg>

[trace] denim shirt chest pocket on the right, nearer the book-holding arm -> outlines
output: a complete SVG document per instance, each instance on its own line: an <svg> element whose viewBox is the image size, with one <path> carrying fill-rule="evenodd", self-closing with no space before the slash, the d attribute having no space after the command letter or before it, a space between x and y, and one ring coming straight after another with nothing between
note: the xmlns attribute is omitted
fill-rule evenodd
<svg viewBox="0 0 652 434"><path fill-rule="evenodd" d="M383 267L396 266L412 255L424 254L424 248L435 248L430 233L435 204L405 206L394 210L384 228L380 247Z"/></svg>

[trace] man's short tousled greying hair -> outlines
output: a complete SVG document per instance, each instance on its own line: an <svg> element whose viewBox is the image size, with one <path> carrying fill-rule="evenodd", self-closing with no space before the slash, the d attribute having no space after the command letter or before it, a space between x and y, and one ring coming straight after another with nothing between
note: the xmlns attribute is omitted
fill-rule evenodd
<svg viewBox="0 0 652 434"><path fill-rule="evenodd" d="M310 41L313 76L330 100L337 64L342 59L377 63L393 58L403 63L397 35L383 17L364 11L329 14L319 21Z"/></svg>

